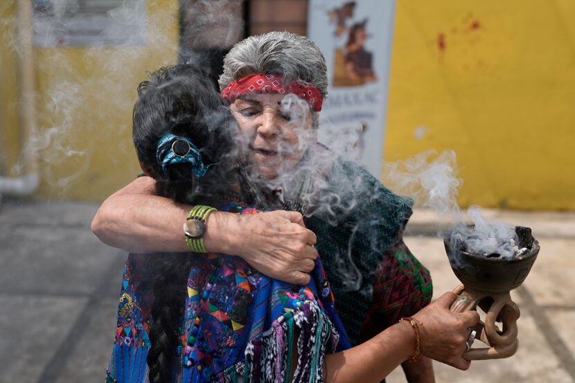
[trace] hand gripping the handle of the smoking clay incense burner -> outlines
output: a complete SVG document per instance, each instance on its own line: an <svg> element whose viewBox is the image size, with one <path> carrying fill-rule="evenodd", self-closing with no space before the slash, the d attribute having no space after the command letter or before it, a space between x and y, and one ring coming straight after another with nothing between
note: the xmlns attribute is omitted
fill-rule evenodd
<svg viewBox="0 0 575 383"><path fill-rule="evenodd" d="M471 362L461 355L467 350L466 341L479 322L479 314L476 311L450 312L450 305L456 298L457 295L447 292L415 314L414 319L423 323L419 327L422 355L467 370Z"/></svg>

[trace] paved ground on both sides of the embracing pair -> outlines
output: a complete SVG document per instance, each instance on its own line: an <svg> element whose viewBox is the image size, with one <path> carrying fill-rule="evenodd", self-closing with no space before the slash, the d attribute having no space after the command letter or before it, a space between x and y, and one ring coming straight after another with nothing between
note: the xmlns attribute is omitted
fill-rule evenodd
<svg viewBox="0 0 575 383"><path fill-rule="evenodd" d="M0 205L0 383L103 382L126 254L89 229L93 204ZM436 364L438 382L575 383L575 213L488 211L531 226L540 256L512 293L521 309L514 357L461 372ZM436 295L458 283L434 238L435 217L416 211L407 244L432 271ZM390 383L405 382L400 371Z"/></svg>

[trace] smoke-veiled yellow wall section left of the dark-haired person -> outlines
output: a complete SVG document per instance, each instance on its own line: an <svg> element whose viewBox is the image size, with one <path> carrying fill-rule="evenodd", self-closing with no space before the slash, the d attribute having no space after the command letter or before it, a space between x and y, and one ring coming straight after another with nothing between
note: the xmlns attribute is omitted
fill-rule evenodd
<svg viewBox="0 0 575 383"><path fill-rule="evenodd" d="M0 165L19 175L15 1L0 6ZM35 47L41 184L35 197L98 201L139 172L132 107L145 71L177 60L177 0L148 0L148 41L106 48ZM6 66L5 66L6 64Z"/></svg>

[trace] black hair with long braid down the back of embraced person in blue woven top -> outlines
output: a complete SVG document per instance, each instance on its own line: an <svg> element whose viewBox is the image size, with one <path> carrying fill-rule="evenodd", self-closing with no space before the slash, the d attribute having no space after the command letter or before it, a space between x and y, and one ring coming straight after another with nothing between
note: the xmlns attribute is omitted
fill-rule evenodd
<svg viewBox="0 0 575 383"><path fill-rule="evenodd" d="M157 194L189 204L209 204L231 186L233 118L213 83L191 65L161 68L149 73L138 87L132 138L145 172L156 180ZM204 163L218 163L205 177L191 172L191 164L176 163L161 169L156 147L164 134L191 139ZM183 240L183 239L182 239ZM152 383L173 382L177 366L179 320L186 299L186 279L193 253L150 254L153 273L152 326L148 350Z"/></svg>

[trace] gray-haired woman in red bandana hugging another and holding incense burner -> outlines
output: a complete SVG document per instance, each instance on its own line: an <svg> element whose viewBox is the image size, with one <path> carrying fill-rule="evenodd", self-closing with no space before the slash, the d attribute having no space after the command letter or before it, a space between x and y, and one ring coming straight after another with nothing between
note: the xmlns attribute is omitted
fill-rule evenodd
<svg viewBox="0 0 575 383"><path fill-rule="evenodd" d="M136 253L236 254L300 285L319 251L339 317L359 345L326 357L329 380L379 381L405 362L410 382L432 382L425 357L466 369L461 354L477 313L450 313L450 293L425 308L430 275L402 238L411 201L317 143L327 85L324 56L305 37L274 32L236 44L220 89L239 128L239 194L269 212L215 211L200 225L186 219L194 206L155 195L154 179L140 177L100 206L92 229Z"/></svg>

